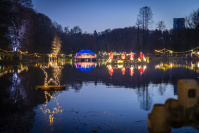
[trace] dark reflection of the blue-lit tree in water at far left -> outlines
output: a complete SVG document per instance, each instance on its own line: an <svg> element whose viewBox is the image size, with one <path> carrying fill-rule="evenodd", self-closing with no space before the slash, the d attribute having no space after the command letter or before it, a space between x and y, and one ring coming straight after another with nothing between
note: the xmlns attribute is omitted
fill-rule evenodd
<svg viewBox="0 0 199 133"><path fill-rule="evenodd" d="M0 132L29 132L34 123L33 108L44 102L42 92L31 89L39 78L26 65L5 67L10 70L0 77Z"/></svg>

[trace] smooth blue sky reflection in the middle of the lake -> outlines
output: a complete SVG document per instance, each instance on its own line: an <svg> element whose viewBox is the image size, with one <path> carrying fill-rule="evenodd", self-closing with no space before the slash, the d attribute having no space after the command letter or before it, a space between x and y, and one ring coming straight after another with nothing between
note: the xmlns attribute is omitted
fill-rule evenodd
<svg viewBox="0 0 199 133"><path fill-rule="evenodd" d="M164 95L176 97L173 95L173 85L167 84L164 87ZM153 96L151 101L163 103L166 100L166 97L157 93L159 85L150 84L148 89ZM72 89L61 93L59 104L62 105L64 112L56 114L53 127L57 131L145 132L147 131L146 115L150 109L146 111L147 99L142 94L138 89L107 87L104 84L95 86L93 82L83 83L79 93ZM151 107L152 103L149 104ZM36 112L41 114L39 109L36 109ZM36 123L49 124L47 117L45 122L40 116L37 117ZM40 124L37 124L33 131L41 130ZM62 125L61 128L58 128L59 125ZM44 131L50 131L50 129Z"/></svg>

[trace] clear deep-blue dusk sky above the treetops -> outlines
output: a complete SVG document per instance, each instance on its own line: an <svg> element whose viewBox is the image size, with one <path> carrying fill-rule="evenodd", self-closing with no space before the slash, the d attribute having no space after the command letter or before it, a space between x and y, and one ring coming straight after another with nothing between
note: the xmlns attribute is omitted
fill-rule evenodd
<svg viewBox="0 0 199 133"><path fill-rule="evenodd" d="M154 23L163 20L166 29L173 18L188 16L199 8L199 0L32 0L37 12L47 15L63 27L79 26L83 32L135 26L139 9L149 6Z"/></svg>

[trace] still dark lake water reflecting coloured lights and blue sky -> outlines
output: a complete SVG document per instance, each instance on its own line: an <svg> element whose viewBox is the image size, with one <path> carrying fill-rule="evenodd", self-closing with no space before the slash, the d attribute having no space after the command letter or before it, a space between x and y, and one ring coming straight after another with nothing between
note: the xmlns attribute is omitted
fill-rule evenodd
<svg viewBox="0 0 199 133"><path fill-rule="evenodd" d="M198 74L198 62L188 61L2 65L0 132L149 132L153 105L177 99L178 79L198 81ZM66 89L35 89L50 78ZM197 130L185 124L171 131Z"/></svg>

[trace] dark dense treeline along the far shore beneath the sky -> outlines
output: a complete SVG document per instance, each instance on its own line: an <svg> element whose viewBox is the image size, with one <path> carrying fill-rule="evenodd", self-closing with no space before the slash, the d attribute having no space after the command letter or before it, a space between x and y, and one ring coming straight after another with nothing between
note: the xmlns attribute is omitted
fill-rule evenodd
<svg viewBox="0 0 199 133"><path fill-rule="evenodd" d="M157 29L149 31L138 21L136 26L89 34L79 26L69 29L52 22L48 16L32 9L31 0L1 0L0 6L0 48L7 50L19 48L29 53L50 53L55 35L60 37L61 53L65 54L74 54L81 49L95 52L152 52L162 48L185 51L199 44L199 10L186 18L188 26L184 29L163 30L163 21L159 21ZM149 7L141 9L151 12Z"/></svg>

